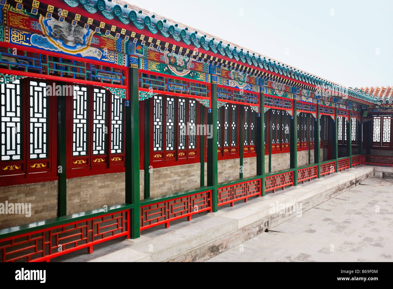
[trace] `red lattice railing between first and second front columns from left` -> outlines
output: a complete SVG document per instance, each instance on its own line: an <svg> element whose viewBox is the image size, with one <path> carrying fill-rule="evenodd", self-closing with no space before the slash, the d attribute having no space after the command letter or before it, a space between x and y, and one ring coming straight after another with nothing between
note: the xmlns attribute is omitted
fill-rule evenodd
<svg viewBox="0 0 393 289"><path fill-rule="evenodd" d="M207 210L211 212L211 191L148 204L140 208L140 229L145 230L161 224L169 228L170 221L183 217L187 217L190 221L191 215Z"/></svg>

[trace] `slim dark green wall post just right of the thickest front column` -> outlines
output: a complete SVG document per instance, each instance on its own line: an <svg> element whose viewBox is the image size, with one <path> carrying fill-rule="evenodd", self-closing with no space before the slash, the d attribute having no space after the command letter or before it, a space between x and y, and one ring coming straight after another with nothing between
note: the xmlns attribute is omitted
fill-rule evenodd
<svg viewBox="0 0 393 289"><path fill-rule="evenodd" d="M145 101L145 147L143 148L143 156L144 156L144 162L143 162L143 168L145 170L144 174L144 193L143 196L145 199L150 198L150 172L149 172L149 166L150 166L150 107L152 103L152 99L148 98Z"/></svg>

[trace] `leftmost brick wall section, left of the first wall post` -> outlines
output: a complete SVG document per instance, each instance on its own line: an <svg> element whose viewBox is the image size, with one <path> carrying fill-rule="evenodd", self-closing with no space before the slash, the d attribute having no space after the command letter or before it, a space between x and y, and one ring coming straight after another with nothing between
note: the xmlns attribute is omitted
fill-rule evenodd
<svg viewBox="0 0 393 289"><path fill-rule="evenodd" d="M0 229L29 224L57 216L57 180L0 187L0 203L31 203L31 216L0 215Z"/></svg>

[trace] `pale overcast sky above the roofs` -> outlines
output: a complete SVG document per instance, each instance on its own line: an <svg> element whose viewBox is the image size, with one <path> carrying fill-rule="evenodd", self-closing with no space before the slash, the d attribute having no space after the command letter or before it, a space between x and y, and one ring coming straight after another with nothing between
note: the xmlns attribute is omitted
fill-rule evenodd
<svg viewBox="0 0 393 289"><path fill-rule="evenodd" d="M393 0L127 2L341 85L393 85Z"/></svg>

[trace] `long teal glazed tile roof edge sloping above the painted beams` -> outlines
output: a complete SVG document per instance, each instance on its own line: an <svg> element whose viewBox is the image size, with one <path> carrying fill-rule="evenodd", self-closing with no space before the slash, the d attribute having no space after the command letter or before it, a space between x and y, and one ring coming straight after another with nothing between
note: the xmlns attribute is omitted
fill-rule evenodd
<svg viewBox="0 0 393 289"><path fill-rule="evenodd" d="M152 34L163 35L165 38L173 38L176 42L184 42L187 45L193 45L196 48L202 48L211 51L220 57L226 56L234 61L248 63L250 67L255 66L266 71L283 74L292 79L303 81L311 85L322 87L325 90L334 92L336 95L344 91L352 99L357 99L360 103L375 104L376 99L358 89L345 87L327 79L310 74L289 64L280 63L275 59L263 56L261 53L248 51L233 42L220 39L205 33L203 31L191 28L178 23L174 20L165 18L161 15L153 14L151 11L141 9L138 6L130 4L130 1L124 0L63 0L71 7L83 6L89 13L101 13L108 20L115 17L123 24L133 24L139 30L147 29Z"/></svg>

